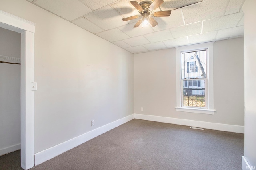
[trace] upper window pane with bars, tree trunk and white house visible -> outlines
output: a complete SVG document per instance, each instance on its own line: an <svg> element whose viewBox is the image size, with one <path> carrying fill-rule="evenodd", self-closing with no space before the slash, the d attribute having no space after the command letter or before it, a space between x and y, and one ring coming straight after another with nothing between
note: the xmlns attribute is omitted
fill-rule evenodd
<svg viewBox="0 0 256 170"><path fill-rule="evenodd" d="M206 78L206 50L181 54L182 79Z"/></svg>

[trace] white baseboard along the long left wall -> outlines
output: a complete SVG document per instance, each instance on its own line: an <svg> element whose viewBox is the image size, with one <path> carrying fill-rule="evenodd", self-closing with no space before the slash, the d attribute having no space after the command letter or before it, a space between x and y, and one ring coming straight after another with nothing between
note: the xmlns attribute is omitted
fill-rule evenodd
<svg viewBox="0 0 256 170"><path fill-rule="evenodd" d="M97 137L111 129L114 129L115 127L118 127L132 119L134 119L134 114L124 117L122 119L119 119L117 121L114 121L112 123L108 123L107 125L104 125L92 131L89 131L87 133L84 133L78 137L75 137L63 143L60 143L54 147L48 148L46 150L42 150L41 152L38 152L34 155L34 158L35 158L34 163L35 165L41 164L46 160L54 158L55 156L58 156L59 154L62 154L74 147L77 147L78 145L81 145L82 143L85 143L86 141L89 141L90 139L93 139L94 137Z"/></svg>

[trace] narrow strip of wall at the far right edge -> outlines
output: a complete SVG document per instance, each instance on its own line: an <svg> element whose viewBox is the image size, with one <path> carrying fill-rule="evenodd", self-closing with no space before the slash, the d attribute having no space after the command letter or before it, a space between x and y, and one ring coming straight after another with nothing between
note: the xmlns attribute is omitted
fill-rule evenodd
<svg viewBox="0 0 256 170"><path fill-rule="evenodd" d="M252 169L256 168L256 1L246 0L244 10L244 80L245 125L244 157ZM244 170L248 169L244 167Z"/></svg>

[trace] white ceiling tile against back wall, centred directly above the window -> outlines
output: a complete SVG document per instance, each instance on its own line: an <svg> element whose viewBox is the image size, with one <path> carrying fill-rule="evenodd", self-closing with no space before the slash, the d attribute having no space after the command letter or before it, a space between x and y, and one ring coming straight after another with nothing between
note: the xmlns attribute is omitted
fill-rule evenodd
<svg viewBox="0 0 256 170"><path fill-rule="evenodd" d="M212 41L216 37L217 31L202 33L197 35L188 36L189 43L202 43L207 41Z"/></svg>

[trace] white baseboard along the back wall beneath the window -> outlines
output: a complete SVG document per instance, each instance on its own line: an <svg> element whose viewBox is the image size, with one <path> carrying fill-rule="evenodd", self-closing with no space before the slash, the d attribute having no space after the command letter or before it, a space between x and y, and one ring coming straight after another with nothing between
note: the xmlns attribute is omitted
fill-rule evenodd
<svg viewBox="0 0 256 170"><path fill-rule="evenodd" d="M158 121L158 122L162 122L162 123L171 123L171 124L176 124L176 125L213 129L213 130L218 130L218 131L244 133L244 126L238 126L238 125L227 125L227 124L221 124L221 123L211 123L211 122L205 122L205 121L177 119L177 118L171 118L171 117L141 115L141 114L136 114L136 113L134 114L134 118L142 119L142 120L149 120L149 121Z"/></svg>

